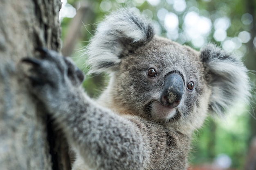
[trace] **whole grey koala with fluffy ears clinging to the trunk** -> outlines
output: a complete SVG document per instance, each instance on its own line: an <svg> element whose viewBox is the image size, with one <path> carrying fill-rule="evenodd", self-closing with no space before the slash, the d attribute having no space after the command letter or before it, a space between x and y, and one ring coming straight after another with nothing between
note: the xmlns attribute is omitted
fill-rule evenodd
<svg viewBox="0 0 256 170"><path fill-rule="evenodd" d="M22 60L29 86L74 148L74 170L186 170L191 134L207 113L224 115L249 96L238 58L161 38L133 9L106 16L86 48L90 74L110 75L98 99L85 94L70 58L36 51Z"/></svg>

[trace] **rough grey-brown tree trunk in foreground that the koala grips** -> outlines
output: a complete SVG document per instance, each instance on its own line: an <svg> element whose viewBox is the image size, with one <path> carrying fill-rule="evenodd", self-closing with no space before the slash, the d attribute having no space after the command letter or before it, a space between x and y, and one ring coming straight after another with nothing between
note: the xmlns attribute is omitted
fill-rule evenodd
<svg viewBox="0 0 256 170"><path fill-rule="evenodd" d="M31 96L20 59L60 50L60 0L0 0L0 169L70 169L67 143Z"/></svg>

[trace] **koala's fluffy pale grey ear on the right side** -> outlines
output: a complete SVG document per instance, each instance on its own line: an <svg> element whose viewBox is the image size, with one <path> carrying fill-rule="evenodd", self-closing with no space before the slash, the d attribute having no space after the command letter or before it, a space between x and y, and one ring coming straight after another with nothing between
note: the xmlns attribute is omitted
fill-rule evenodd
<svg viewBox="0 0 256 170"><path fill-rule="evenodd" d="M212 90L209 110L223 114L238 99L247 101L250 95L249 77L239 58L212 44L200 52L206 80Z"/></svg>

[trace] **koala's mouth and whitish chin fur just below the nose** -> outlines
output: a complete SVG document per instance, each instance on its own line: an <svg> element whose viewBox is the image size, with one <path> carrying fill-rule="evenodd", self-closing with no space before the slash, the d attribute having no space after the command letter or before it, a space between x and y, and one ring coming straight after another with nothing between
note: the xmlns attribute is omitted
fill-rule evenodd
<svg viewBox="0 0 256 170"><path fill-rule="evenodd" d="M154 119L166 121L168 119L171 119L175 115L175 112L175 108L164 106L157 101L152 103L151 114Z"/></svg>

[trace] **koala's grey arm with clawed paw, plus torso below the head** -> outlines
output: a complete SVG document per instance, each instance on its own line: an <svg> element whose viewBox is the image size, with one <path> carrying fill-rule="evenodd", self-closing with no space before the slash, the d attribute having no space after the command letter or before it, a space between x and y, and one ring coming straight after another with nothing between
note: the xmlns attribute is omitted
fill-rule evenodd
<svg viewBox="0 0 256 170"><path fill-rule="evenodd" d="M82 74L71 60L54 51L39 52L39 59L23 60L32 65L28 76L32 93L52 113L88 167L185 169L186 136L137 117L118 116L97 105L83 92Z"/></svg>

